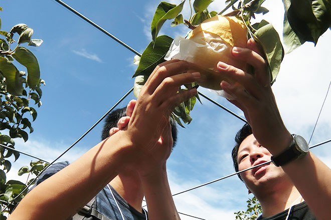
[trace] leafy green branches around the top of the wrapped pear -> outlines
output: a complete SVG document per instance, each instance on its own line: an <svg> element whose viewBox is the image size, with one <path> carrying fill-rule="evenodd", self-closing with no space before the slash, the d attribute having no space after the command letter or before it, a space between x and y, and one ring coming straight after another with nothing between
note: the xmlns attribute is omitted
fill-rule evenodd
<svg viewBox="0 0 331 220"><path fill-rule="evenodd" d="M183 14L181 14L185 1L183 0L178 5L161 1L157 6L151 21L152 41L144 50L138 68L133 75L133 77L139 77L135 80L135 95L139 93L144 81L147 80L155 66L165 61L163 58L172 43L172 38L169 37L167 45L165 45L159 39L168 36L159 36L160 38L157 36L165 20L173 20L171 26L184 24L189 29L194 29L206 19L223 14L230 7L233 11L225 15L237 16L244 21L249 35L260 44L264 51L271 72L270 82L275 81L285 54L280 37L272 24L264 19L261 22L251 23L251 18L255 18L256 14L262 13L263 15L269 11L261 6L265 0L239 0L239 2L238 0L226 0L226 7L219 13L209 12L208 7L213 0L194 0L193 4L189 0L191 13L188 19L184 19ZM331 0L283 0L283 3L285 8L283 41L287 52L297 48L305 41L312 41L316 44L318 37L331 26ZM193 86L197 87L198 85L191 85L191 87ZM199 96L195 98L199 98ZM183 122L190 123L192 120L190 111L192 109L186 103L183 102L183 104L185 108L182 106L177 109L173 113L173 117L177 121L180 121L181 118ZM179 124L183 125L180 122Z"/></svg>

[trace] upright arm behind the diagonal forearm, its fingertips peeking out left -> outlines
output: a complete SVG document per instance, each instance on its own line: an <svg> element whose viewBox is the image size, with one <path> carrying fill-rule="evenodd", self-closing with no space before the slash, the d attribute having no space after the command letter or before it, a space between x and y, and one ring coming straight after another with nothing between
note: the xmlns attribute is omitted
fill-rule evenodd
<svg viewBox="0 0 331 220"><path fill-rule="evenodd" d="M126 116L118 121L117 127L110 129L110 136L127 126L135 103L135 100L129 102ZM166 169L166 161L172 146L171 125L168 123L155 145L155 152L153 155L146 156L145 167L137 170L148 206L149 219L180 219L171 194Z"/></svg>

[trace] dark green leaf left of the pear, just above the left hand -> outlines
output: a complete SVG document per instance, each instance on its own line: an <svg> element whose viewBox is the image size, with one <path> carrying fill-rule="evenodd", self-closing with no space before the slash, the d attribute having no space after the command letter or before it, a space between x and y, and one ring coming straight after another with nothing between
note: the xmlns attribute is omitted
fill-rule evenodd
<svg viewBox="0 0 331 220"><path fill-rule="evenodd" d="M167 35L156 37L155 44L151 41L146 49L142 52L138 68L134 72L133 77L137 75L147 75L154 70L154 68L164 61L164 56L167 54L173 38Z"/></svg>

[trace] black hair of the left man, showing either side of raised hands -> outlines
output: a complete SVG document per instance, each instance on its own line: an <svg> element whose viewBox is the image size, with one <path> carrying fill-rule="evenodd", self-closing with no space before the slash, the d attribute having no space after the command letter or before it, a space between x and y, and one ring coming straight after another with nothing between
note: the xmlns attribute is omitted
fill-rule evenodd
<svg viewBox="0 0 331 220"><path fill-rule="evenodd" d="M117 127L117 122L121 117L126 116L126 107L123 108L117 108L113 111L111 111L105 118L105 122L102 128L102 132L101 132L101 139L104 140L107 137L109 137L109 130L112 127ZM146 118L148 119L148 118ZM171 124L171 132L173 135L173 140L174 140L174 144L173 144L173 148L176 145L177 142L177 123L176 121L170 117L170 124Z"/></svg>

